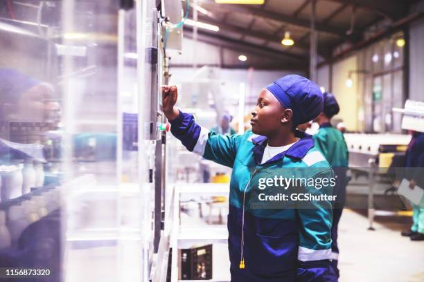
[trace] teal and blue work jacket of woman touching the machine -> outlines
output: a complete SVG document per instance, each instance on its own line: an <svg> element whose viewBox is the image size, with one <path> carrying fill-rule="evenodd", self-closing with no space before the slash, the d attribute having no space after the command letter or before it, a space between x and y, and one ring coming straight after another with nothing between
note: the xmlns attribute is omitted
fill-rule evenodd
<svg viewBox="0 0 424 282"><path fill-rule="evenodd" d="M228 215L232 282L337 281L330 266L329 201L321 201L314 208L255 209L249 205L251 195L258 191L258 178L272 177L276 171L284 177L333 176L330 164L314 147L310 135L297 131L298 142L260 164L267 144L264 136L251 131L219 135L182 112L170 124L171 133L189 151L233 169ZM298 193L332 193L310 186L299 189ZM240 269L242 258L245 268Z"/></svg>

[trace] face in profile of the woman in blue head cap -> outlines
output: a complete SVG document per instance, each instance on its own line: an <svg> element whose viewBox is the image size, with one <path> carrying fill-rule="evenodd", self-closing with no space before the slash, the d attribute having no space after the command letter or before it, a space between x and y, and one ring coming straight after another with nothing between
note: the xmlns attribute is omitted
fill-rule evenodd
<svg viewBox="0 0 424 282"><path fill-rule="evenodd" d="M258 135L272 136L283 129L282 119L285 109L270 91L262 89L258 103L251 112L251 131Z"/></svg>

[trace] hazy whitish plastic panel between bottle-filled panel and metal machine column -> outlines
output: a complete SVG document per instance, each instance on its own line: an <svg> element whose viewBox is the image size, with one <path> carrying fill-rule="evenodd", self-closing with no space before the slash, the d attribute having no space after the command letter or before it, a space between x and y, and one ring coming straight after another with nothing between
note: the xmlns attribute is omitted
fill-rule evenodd
<svg viewBox="0 0 424 282"><path fill-rule="evenodd" d="M64 280L119 281L118 7L64 1L62 29Z"/></svg>

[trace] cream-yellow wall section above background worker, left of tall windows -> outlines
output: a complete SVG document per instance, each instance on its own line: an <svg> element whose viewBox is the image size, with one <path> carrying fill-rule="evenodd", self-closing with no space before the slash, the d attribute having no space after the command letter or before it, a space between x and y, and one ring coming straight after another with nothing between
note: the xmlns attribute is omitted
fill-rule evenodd
<svg viewBox="0 0 424 282"><path fill-rule="evenodd" d="M346 79L348 78L348 71L357 69L357 57L351 56L333 65L333 85L332 91L335 95L337 102L339 102L340 113L335 115L334 118L341 118L346 124L348 131L357 131L357 109L358 109L358 79L353 75L353 86L348 88L346 86Z"/></svg>

